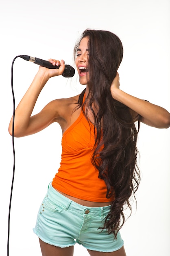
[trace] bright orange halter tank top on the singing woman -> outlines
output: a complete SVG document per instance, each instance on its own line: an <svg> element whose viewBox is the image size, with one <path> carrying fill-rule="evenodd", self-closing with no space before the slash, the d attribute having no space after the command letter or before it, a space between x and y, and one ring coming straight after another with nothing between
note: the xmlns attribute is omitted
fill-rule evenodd
<svg viewBox="0 0 170 256"><path fill-rule="evenodd" d="M63 133L60 168L52 186L75 198L110 202L114 195L106 198L106 184L98 178L98 170L91 162L94 141L94 126L88 123L81 111L78 119Z"/></svg>

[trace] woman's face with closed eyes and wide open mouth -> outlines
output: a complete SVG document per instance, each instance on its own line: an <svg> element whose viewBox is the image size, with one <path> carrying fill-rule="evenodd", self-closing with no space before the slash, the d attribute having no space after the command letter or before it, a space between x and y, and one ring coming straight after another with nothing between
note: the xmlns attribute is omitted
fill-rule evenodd
<svg viewBox="0 0 170 256"><path fill-rule="evenodd" d="M89 72L88 72L88 37L82 38L80 45L76 52L76 67L79 75L79 81L82 85L86 85L89 80Z"/></svg>

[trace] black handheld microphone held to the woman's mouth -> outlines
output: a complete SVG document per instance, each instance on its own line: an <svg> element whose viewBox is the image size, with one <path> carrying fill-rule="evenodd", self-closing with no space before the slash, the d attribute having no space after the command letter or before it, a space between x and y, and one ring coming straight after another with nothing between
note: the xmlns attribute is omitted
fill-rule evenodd
<svg viewBox="0 0 170 256"><path fill-rule="evenodd" d="M28 55L20 55L20 58L23 58L25 61L31 61L37 65L40 65L42 67L47 67L47 68L55 68L55 69L59 69L59 66L53 66L52 63L50 63L50 61L44 61L41 60L41 58L36 58L36 57L31 57ZM62 76L64 77L73 77L75 74L75 69L70 66L70 65L65 65L65 70L62 74Z"/></svg>

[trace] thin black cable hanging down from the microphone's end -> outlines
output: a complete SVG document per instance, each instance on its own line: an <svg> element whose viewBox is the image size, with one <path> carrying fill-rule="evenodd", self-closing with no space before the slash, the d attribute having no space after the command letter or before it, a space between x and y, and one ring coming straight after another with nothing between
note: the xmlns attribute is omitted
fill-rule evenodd
<svg viewBox="0 0 170 256"><path fill-rule="evenodd" d="M14 182L14 175L15 175L15 147L14 147L15 97L14 97L14 91L13 91L13 64L14 64L15 59L18 57L20 57L20 56L16 56L13 59L12 67L11 67L11 88L12 88L12 95L13 95L13 124L12 124L13 177L12 177L12 184L11 184L11 196L10 196L10 201L9 201L7 256L9 256L9 231L10 231L11 201L12 201L13 182Z"/></svg>

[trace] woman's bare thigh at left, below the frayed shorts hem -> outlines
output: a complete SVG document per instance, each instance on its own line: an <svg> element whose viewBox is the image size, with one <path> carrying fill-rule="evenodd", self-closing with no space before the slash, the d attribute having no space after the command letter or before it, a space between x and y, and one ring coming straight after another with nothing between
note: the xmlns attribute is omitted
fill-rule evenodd
<svg viewBox="0 0 170 256"><path fill-rule="evenodd" d="M54 245L44 243L41 239L39 239L39 244L42 256L73 256L74 246L65 248L56 247Z"/></svg>

